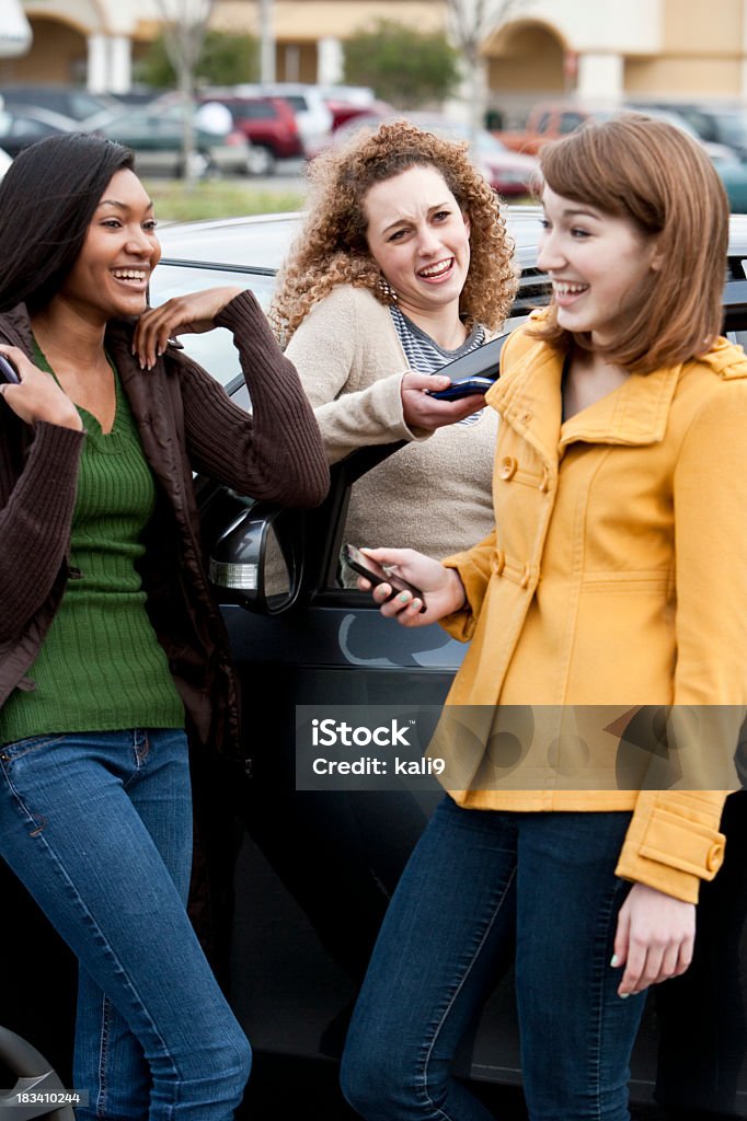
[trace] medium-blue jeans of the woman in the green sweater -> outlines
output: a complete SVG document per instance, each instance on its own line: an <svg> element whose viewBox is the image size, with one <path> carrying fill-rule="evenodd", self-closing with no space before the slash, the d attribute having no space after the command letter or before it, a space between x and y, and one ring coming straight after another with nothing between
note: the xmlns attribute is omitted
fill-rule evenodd
<svg viewBox="0 0 747 1121"><path fill-rule="evenodd" d="M251 1051L185 910L184 733L43 735L0 768L0 854L80 962L79 1121L229 1121Z"/></svg>

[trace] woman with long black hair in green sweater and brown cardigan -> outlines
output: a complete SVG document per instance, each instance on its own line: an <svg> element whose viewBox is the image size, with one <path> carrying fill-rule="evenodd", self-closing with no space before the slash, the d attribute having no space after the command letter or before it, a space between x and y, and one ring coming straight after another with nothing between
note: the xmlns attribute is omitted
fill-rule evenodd
<svg viewBox="0 0 747 1121"><path fill-rule="evenodd" d="M240 745L192 476L304 506L328 469L250 293L147 311L155 225L130 152L92 136L33 146L0 186L20 374L0 386L0 854L80 960L79 1119L228 1121L250 1049L185 910L187 736ZM251 417L168 343L215 325Z"/></svg>

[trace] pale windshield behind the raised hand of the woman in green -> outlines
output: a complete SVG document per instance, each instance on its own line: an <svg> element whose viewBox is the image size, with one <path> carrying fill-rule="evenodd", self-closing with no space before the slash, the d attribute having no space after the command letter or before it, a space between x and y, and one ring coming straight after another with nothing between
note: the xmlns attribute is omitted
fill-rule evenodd
<svg viewBox="0 0 747 1121"><path fill-rule="evenodd" d="M200 291L202 288L216 288L223 285L240 285L250 288L267 311L275 287L275 277L261 276L248 271L229 269L196 268L184 263L162 261L153 275L150 284L150 303L154 307L165 304L172 296L183 296L185 293ZM179 342L190 358L199 362L222 386L230 387L240 379L241 367L239 352L233 345L230 331L219 327L204 335L182 335ZM246 405L246 400L239 404Z"/></svg>

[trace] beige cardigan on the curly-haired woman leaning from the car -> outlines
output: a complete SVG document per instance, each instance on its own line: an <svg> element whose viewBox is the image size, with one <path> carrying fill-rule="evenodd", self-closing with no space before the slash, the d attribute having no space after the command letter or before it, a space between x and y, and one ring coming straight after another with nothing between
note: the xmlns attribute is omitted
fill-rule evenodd
<svg viewBox="0 0 747 1121"><path fill-rule="evenodd" d="M441 558L492 528L494 409L473 424L412 430L399 386L408 365L391 314L365 288L342 285L315 304L286 350L314 407L330 463L367 444L400 439L356 483L345 539Z"/></svg>

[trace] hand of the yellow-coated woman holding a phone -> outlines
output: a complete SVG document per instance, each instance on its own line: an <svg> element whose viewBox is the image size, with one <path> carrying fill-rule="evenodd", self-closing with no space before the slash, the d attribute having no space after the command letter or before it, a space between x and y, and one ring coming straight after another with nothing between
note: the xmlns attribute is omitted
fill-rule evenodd
<svg viewBox="0 0 747 1121"><path fill-rule="evenodd" d="M409 592L400 592L389 600L391 585L379 584L371 594L380 605L381 614L387 619L396 619L403 627L426 627L464 605L464 587L454 568L444 568L437 560L426 557L423 553L416 553L415 549L362 549L361 552L380 565L386 565L393 575L402 576L408 584L419 587L423 593L426 610L421 612L423 601L413 597ZM371 584L361 576L358 586L366 592Z"/></svg>

